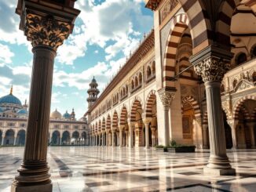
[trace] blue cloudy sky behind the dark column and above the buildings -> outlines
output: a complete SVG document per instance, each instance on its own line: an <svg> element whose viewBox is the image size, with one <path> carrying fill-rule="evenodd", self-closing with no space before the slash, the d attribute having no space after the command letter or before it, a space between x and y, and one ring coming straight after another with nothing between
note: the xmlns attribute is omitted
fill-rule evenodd
<svg viewBox="0 0 256 192"><path fill-rule="evenodd" d="M29 100L33 55L31 42L19 30L17 0L0 0L0 97ZM78 0L81 13L68 40L57 50L53 71L51 111L75 109L76 118L87 110L87 89L95 76L104 90L153 27L153 13L143 0ZM101 93L100 93L101 94Z"/></svg>

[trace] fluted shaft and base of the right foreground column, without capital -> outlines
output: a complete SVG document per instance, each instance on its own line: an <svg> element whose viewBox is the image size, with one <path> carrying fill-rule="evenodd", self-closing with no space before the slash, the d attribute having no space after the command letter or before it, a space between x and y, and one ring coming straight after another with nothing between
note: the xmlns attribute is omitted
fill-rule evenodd
<svg viewBox="0 0 256 192"><path fill-rule="evenodd" d="M224 122L221 109L221 82L205 82L207 92L207 112L210 138L210 159L207 173L229 175L234 169L226 154Z"/></svg>

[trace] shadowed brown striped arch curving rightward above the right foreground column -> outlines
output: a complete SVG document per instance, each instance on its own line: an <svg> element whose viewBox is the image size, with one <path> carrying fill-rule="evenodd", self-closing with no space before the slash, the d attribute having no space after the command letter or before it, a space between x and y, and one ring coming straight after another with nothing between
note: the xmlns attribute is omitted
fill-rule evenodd
<svg viewBox="0 0 256 192"><path fill-rule="evenodd" d="M229 0L222 2L216 22L216 42L224 45L230 45L230 27L233 13L241 0Z"/></svg>

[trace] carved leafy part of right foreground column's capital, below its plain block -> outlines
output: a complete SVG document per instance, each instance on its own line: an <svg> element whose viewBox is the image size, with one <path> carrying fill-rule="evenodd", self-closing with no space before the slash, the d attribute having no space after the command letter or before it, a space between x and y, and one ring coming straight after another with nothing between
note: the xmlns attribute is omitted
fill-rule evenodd
<svg viewBox="0 0 256 192"><path fill-rule="evenodd" d="M195 67L196 74L201 75L203 82L221 82L226 71L229 71L228 60L210 56L200 61Z"/></svg>

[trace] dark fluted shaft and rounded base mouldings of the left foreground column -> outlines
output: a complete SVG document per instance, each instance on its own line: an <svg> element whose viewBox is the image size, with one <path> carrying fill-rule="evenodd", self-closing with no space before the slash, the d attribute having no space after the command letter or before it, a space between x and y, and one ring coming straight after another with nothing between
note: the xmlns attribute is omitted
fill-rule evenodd
<svg viewBox="0 0 256 192"><path fill-rule="evenodd" d="M49 110L53 82L53 62L56 52L48 46L36 46L31 77L30 109L27 120L24 161L17 185L26 183L51 183L47 165L47 141L49 129Z"/></svg>

